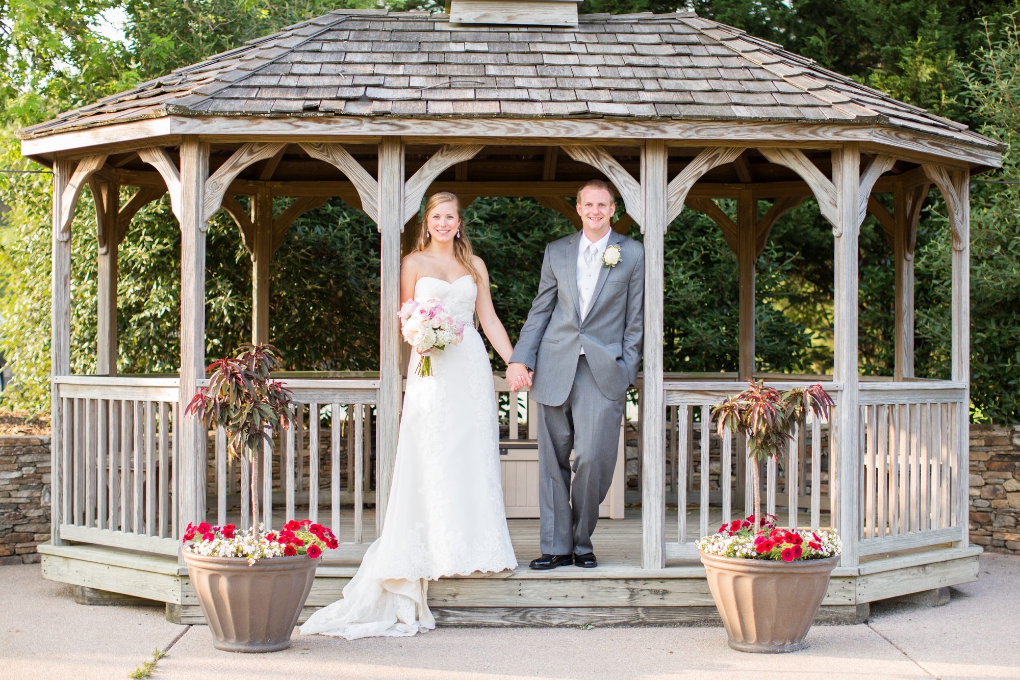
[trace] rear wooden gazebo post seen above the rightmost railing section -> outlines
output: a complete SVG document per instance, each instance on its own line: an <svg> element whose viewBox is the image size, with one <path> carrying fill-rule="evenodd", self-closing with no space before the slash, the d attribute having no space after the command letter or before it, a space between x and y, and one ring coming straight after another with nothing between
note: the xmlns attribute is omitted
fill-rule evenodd
<svg viewBox="0 0 1020 680"><path fill-rule="evenodd" d="M912 224L907 210L907 191L902 181L894 185L892 202L892 257L896 261L894 380L900 382L914 377L914 253L910 248Z"/></svg>

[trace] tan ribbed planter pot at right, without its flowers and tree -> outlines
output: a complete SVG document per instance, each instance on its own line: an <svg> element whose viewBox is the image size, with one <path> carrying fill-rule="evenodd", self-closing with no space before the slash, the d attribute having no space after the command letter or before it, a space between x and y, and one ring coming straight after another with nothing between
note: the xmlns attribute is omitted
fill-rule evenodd
<svg viewBox="0 0 1020 680"><path fill-rule="evenodd" d="M774 562L702 553L701 560L729 646L779 653L805 646L839 558Z"/></svg>

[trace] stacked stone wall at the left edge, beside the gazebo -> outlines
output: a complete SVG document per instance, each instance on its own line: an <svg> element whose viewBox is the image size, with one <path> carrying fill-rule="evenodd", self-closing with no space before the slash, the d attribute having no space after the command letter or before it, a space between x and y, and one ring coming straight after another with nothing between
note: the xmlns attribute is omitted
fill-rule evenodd
<svg viewBox="0 0 1020 680"><path fill-rule="evenodd" d="M50 539L50 437L0 436L0 565L39 562Z"/></svg>

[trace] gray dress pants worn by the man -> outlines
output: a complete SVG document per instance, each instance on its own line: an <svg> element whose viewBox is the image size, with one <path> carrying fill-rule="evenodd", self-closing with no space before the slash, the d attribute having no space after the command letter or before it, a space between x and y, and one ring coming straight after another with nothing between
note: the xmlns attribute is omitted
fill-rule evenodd
<svg viewBox="0 0 1020 680"><path fill-rule="evenodd" d="M561 406L539 405L543 555L594 552L592 532L599 521L599 505L613 482L625 401L603 396L581 355L567 401Z"/></svg>

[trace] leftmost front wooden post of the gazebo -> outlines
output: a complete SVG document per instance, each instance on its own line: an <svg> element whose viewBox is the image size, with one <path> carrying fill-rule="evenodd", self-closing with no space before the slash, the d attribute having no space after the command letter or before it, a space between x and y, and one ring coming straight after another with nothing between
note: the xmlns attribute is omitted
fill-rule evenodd
<svg viewBox="0 0 1020 680"><path fill-rule="evenodd" d="M57 160L53 164L53 240L51 262L51 308L50 308L50 375L70 374L70 234L63 236L61 213L63 211L64 189L71 173L71 161ZM60 525L66 521L61 514L64 506L64 476L69 470L63 468L63 447L61 436L66 414L61 408L56 382L50 383L50 499L51 521L50 539L54 545L63 545Z"/></svg>

